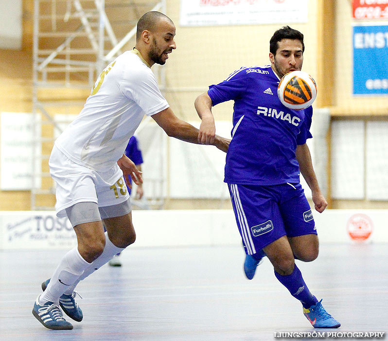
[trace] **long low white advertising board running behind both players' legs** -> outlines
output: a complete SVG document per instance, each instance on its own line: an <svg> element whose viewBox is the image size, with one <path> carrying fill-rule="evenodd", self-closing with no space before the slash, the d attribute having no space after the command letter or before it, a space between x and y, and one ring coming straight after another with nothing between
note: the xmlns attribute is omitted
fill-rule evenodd
<svg viewBox="0 0 388 341"><path fill-rule="evenodd" d="M321 244L388 243L385 209L313 210ZM134 210L132 247L241 246L233 210ZM0 212L0 249L70 249L77 245L67 218L53 211Z"/></svg>

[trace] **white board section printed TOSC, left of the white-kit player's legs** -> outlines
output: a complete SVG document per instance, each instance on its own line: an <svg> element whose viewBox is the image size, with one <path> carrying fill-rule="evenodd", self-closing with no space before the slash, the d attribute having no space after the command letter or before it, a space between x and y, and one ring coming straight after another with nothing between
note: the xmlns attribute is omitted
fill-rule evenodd
<svg viewBox="0 0 388 341"><path fill-rule="evenodd" d="M54 212L12 212L0 216L3 249L57 249L77 245L68 218Z"/></svg>

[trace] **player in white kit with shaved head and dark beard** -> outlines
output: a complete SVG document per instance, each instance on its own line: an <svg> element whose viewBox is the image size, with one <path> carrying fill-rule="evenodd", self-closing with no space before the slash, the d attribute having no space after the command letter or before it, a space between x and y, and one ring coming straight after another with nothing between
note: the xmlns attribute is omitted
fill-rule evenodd
<svg viewBox="0 0 388 341"><path fill-rule="evenodd" d="M60 261L35 301L33 315L50 329L72 329L63 311L75 321L83 318L75 302L75 286L135 242L131 204L124 175L136 184L141 172L123 155L144 114L169 135L191 143L210 144L198 130L177 118L161 95L151 71L165 64L176 49L175 25L159 12L138 22L136 47L110 63L97 79L86 104L55 141L50 173L56 182L56 214L68 217L78 246ZM226 152L229 140L211 143ZM103 223L106 227L104 233Z"/></svg>

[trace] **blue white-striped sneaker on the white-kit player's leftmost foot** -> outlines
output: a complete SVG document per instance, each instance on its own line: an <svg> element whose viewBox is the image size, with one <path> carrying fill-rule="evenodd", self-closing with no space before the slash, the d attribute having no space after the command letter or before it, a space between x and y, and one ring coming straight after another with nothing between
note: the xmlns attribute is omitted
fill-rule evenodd
<svg viewBox="0 0 388 341"><path fill-rule="evenodd" d="M49 329L73 329L70 322L62 317L61 309L53 302L39 303L39 296L35 301L33 315Z"/></svg>

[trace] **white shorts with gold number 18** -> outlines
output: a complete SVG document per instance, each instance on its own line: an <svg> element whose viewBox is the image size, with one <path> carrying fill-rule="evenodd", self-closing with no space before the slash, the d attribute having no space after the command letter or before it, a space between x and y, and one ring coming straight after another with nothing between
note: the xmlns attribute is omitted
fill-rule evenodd
<svg viewBox="0 0 388 341"><path fill-rule="evenodd" d="M129 199L123 171L115 166L97 172L71 161L55 146L51 152L50 174L56 183L55 213L66 217L65 208L80 202L94 202L98 207L121 204Z"/></svg>

